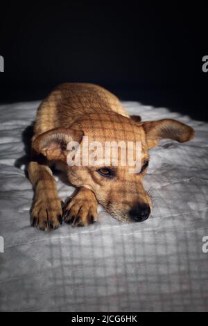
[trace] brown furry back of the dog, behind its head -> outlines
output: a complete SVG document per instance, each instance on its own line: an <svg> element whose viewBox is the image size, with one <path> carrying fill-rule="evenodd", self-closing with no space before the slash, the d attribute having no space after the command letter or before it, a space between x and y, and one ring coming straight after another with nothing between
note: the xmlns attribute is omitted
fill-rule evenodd
<svg viewBox="0 0 208 326"><path fill-rule="evenodd" d="M103 87L87 83L59 85L37 111L35 137L53 128L69 128L80 116L106 111L129 117L119 98Z"/></svg>

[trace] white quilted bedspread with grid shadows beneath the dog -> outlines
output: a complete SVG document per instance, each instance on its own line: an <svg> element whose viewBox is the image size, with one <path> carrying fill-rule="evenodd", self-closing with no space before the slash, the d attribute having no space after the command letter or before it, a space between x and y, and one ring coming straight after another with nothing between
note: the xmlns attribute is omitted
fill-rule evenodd
<svg viewBox="0 0 208 326"><path fill-rule="evenodd" d="M185 144L165 139L150 151L144 178L153 214L121 224L100 207L87 228L31 228L33 190L25 177L22 132L39 103L0 106L1 311L208 310L208 129L189 117L125 102L142 120L178 119L196 129ZM18 161L17 161L18 160ZM20 168L18 167L20 166ZM73 191L58 176L60 198Z"/></svg>

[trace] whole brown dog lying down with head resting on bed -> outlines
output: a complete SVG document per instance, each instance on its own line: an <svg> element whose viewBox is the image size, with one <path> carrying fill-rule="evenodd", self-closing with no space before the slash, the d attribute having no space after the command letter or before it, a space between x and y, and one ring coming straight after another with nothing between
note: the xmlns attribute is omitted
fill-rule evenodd
<svg viewBox="0 0 208 326"><path fill-rule="evenodd" d="M28 175L35 189L31 223L40 230L58 228L62 218L72 226L88 225L97 219L101 203L119 221L144 221L151 200L142 185L148 166L148 149L162 138L189 141L193 128L172 119L138 122L130 119L119 99L92 84L63 84L55 88L37 111L33 158ZM67 144L89 141L141 141L141 170L128 173L129 166L69 166ZM78 192L62 207L49 166L67 173Z"/></svg>

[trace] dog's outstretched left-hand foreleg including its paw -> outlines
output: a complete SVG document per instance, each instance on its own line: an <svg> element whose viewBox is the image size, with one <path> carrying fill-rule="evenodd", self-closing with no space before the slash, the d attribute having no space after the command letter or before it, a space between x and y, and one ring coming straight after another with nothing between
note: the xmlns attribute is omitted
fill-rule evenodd
<svg viewBox="0 0 208 326"><path fill-rule="evenodd" d="M35 190L31 225L40 230L56 229L62 224L62 205L49 166L30 162L28 176Z"/></svg>

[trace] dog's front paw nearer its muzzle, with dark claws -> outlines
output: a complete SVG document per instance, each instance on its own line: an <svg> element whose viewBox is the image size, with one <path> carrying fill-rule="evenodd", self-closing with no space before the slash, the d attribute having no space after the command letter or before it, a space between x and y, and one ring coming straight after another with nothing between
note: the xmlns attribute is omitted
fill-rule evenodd
<svg viewBox="0 0 208 326"><path fill-rule="evenodd" d="M63 208L64 222L70 223L73 227L94 223L98 218L97 208L98 202L94 193L81 187Z"/></svg>

